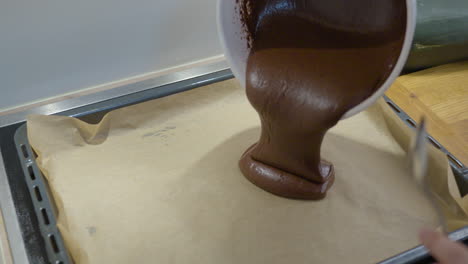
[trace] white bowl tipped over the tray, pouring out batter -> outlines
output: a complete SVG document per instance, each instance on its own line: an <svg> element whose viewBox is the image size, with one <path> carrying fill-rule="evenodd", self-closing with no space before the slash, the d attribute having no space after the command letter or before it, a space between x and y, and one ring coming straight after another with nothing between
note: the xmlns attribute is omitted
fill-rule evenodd
<svg viewBox="0 0 468 264"><path fill-rule="evenodd" d="M221 47L224 55L231 67L232 73L245 87L245 75L247 68L247 58L249 49L247 48L246 39L242 38L242 24L237 14L236 2L234 0L218 0L218 31L221 38ZM342 119L353 116L367 107L371 106L377 99L395 81L400 72L403 70L406 59L408 58L411 44L413 42L414 30L416 27L416 0L406 0L407 23L405 40L403 48L398 58L397 64L393 68L392 73L384 82L384 84L375 91L369 98L364 100L359 105L350 109Z"/></svg>

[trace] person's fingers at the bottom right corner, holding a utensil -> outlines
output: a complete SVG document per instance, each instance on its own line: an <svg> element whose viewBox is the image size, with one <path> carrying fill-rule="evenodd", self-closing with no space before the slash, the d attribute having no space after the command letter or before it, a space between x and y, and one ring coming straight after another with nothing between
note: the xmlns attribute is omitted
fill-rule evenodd
<svg viewBox="0 0 468 264"><path fill-rule="evenodd" d="M423 229L419 239L440 264L468 264L468 248L463 244L429 229Z"/></svg>

